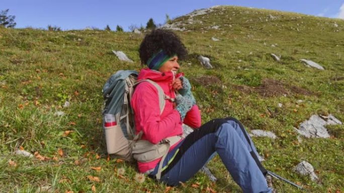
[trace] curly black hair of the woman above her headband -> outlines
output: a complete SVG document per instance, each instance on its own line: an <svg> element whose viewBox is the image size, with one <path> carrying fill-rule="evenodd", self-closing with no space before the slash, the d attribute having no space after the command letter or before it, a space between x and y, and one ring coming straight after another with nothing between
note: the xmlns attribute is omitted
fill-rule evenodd
<svg viewBox="0 0 344 193"><path fill-rule="evenodd" d="M181 39L170 30L157 29L147 34L139 48L141 64L147 61L154 54L163 50L168 56L177 55L179 60L186 58L188 51Z"/></svg>

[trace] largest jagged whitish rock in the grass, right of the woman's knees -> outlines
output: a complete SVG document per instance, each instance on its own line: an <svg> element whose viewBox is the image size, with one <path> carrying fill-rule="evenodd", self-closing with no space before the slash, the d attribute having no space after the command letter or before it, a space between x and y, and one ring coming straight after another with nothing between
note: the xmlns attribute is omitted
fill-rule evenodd
<svg viewBox="0 0 344 193"><path fill-rule="evenodd" d="M321 118L318 115L312 115L309 120L304 121L300 124L299 129L296 131L307 138L316 137L316 138L329 138L330 135L327 132L327 129L324 125L336 125L342 124L338 119L336 119L333 115L322 116ZM326 120L324 120L326 119Z"/></svg>

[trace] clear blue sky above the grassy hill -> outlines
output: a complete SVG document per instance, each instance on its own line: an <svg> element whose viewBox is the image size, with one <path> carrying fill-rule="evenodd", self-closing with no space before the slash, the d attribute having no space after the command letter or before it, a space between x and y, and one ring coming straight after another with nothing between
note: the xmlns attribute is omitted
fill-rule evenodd
<svg viewBox="0 0 344 193"><path fill-rule="evenodd" d="M104 29L116 25L128 31L130 25L146 26L149 18L156 24L170 18L183 16L194 10L216 5L232 5L344 19L344 0L174 0L174 1L106 1L106 0L0 0L0 10L10 9L16 16L16 28L47 28L48 25L62 30L96 27Z"/></svg>

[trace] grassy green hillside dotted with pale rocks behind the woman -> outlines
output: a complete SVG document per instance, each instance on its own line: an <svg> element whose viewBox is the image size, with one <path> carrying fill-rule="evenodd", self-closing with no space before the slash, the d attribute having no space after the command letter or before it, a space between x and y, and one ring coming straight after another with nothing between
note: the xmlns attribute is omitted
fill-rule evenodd
<svg viewBox="0 0 344 193"><path fill-rule="evenodd" d="M278 19L270 19L270 14ZM175 21L187 19L181 17ZM344 21L239 7L220 7L194 20L203 24L188 25L187 29L192 31L178 34L191 56L209 56L216 68L205 70L190 57L182 62L183 71L191 79L215 76L222 82L202 86L191 81L203 122L235 116L248 130L273 131L278 139L253 139L260 153L266 156L264 165L268 169L305 184L310 192L340 190L344 175L344 127L328 127L330 139L304 139L302 143L297 141L293 127L315 113L331 113L344 120ZM215 25L220 26L219 30L208 29ZM211 37L221 41L213 42ZM57 192L90 192L92 185L98 192L165 190L165 185L151 179L136 182L134 164L118 163L116 159L107 161L99 150L102 86L119 69L140 68L137 49L142 38L132 33L104 31L0 28L1 191L35 192L44 185L53 186ZM272 44L277 46L271 47ZM124 51L135 63L119 61L111 50ZM270 53L282 55L282 63L275 62ZM299 62L303 58L318 62L326 70L305 67ZM260 86L266 78L283 82L287 89L297 86L312 94L290 91L286 96L263 97L238 90L238 85ZM304 102L297 104L300 99ZM61 108L65 100L71 102L69 108ZM283 107L278 108L278 103ZM56 117L56 111L64 111L66 115ZM65 130L74 132L64 137ZM20 145L32 153L38 151L58 160L14 156ZM58 155L59 148L63 150L62 157ZM10 166L10 159L17 166ZM321 185L292 171L301 160L314 166ZM94 166L101 166L101 171L91 168ZM219 192L240 191L219 157L209 166L219 177L216 184L198 173L170 192L206 191L208 186ZM122 167L124 177L116 172ZM101 182L89 180L88 175L100 177ZM192 187L196 182L200 186ZM298 192L279 181L276 185L283 192Z"/></svg>

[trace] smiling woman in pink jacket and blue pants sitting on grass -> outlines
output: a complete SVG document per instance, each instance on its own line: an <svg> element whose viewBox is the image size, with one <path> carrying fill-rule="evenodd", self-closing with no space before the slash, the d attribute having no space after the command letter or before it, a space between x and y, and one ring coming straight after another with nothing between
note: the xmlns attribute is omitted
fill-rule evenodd
<svg viewBox="0 0 344 193"><path fill-rule="evenodd" d="M171 31L153 30L142 41L139 54L141 63L148 68L140 71L138 80L156 82L176 102L166 100L160 113L157 89L148 82L140 83L131 100L136 132L143 133L142 139L157 144L167 137L181 136L183 123L198 128L169 147L160 166L160 180L169 185L185 182L217 152L243 192L272 192L262 172L264 168L255 160L255 147L240 122L234 118L214 119L201 126L191 85L183 73L177 73L178 61L187 55L179 37ZM160 160L138 161L138 168L154 176Z"/></svg>

